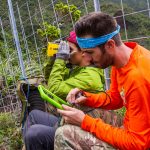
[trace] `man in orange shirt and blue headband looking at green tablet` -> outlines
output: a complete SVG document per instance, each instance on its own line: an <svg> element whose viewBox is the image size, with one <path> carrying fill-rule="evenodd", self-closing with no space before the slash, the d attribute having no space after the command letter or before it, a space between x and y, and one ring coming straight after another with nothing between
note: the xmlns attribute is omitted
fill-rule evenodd
<svg viewBox="0 0 150 150"><path fill-rule="evenodd" d="M107 110L125 106L123 128L63 106L64 110L58 112L72 125L56 131L55 149L150 148L150 52L134 42L122 43L119 30L115 19L104 13L88 14L75 24L78 44L91 54L95 65L103 69L112 66L111 86L100 94L82 91L79 98L76 96L81 90L74 89L67 100Z"/></svg>

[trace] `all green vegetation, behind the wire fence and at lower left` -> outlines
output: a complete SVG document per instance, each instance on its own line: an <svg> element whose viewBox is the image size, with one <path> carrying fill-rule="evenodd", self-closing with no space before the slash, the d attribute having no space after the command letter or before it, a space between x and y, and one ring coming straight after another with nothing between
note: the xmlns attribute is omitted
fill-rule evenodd
<svg viewBox="0 0 150 150"><path fill-rule="evenodd" d="M37 0L28 0L30 15L32 16L32 26L29 19L27 5L24 4L25 1L17 0L18 5L22 6L20 8L20 14L25 35L27 37L25 39L23 38L22 27L17 12L16 0L12 0L22 48L22 56L28 77L41 74L39 57L41 64L43 65L43 62L46 58L47 39L49 42L52 42L56 39L59 39L60 35L65 38L69 32L73 30L72 23L74 24L80 18L80 16L86 14L86 11L94 11L93 0L85 1L87 2L87 10L85 9L85 5L81 0L69 0L69 7L65 0L55 1L54 7L49 5L51 1L42 0L40 1L43 15L42 19ZM148 12L127 15L135 11L147 9L146 0L126 0L123 2L128 39L132 40L135 38L150 36L150 18L148 16ZM120 0L100 0L100 4L102 12L109 13L115 17L120 16L116 19L118 24L121 26L122 39L126 41L125 26L122 17ZM54 13L54 10L56 11L57 19L55 18L56 14ZM15 81L21 77L21 71L18 67L18 56L10 28L7 1L1 1L0 17L3 21L3 27L7 40L6 45L3 34L0 30L0 96L4 98L5 105L7 105L10 104L10 102L8 102L9 98L7 98L8 92L6 89L13 89L13 86L16 84ZM144 47L150 49L150 38L143 38L136 40L136 42L139 42ZM12 93L14 92L15 91L12 91ZM0 107L1 106L3 106L3 104L0 101ZM125 108L122 108L117 112L124 116ZM18 128L18 126L17 120L12 114L0 114L0 149L21 149L22 138L20 134L20 128Z"/></svg>

